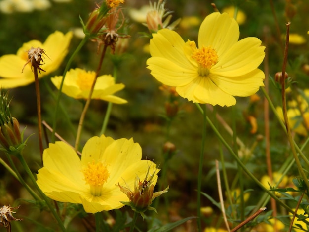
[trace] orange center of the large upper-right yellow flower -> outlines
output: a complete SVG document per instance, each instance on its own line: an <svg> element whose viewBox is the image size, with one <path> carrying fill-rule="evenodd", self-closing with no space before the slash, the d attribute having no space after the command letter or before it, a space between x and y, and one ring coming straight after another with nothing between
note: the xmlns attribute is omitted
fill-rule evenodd
<svg viewBox="0 0 309 232"><path fill-rule="evenodd" d="M202 77L208 76L211 67L218 62L217 52L211 46L196 48L192 58L197 62L198 74Z"/></svg>

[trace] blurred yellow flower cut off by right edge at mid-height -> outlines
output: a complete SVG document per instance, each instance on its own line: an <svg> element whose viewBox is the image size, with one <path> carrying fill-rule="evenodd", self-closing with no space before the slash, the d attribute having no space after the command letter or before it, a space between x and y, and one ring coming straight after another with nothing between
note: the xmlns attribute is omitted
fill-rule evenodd
<svg viewBox="0 0 309 232"><path fill-rule="evenodd" d="M309 89L305 89L303 92L308 98ZM289 101L287 104L287 116L291 129L299 135L307 136L309 130L309 109L307 100L299 95L297 101ZM280 118L284 120L282 107L278 106L276 110Z"/></svg>

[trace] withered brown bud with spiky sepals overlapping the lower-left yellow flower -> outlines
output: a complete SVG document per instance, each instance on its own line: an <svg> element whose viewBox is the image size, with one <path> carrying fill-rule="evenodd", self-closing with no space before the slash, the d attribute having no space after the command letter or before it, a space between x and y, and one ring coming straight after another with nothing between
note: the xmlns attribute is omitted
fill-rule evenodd
<svg viewBox="0 0 309 232"><path fill-rule="evenodd" d="M156 197L162 195L163 193L167 193L169 188L167 187L165 190L154 193L154 184L152 181L154 174L150 176L148 176L148 174L149 169L143 181L141 181L139 177L136 177L133 191L130 187L124 187L118 183L120 190L129 198L129 202L121 203L130 206L134 212L141 214L143 218L145 217L144 212L146 210L154 210L156 212L156 209L150 207L150 205Z"/></svg>

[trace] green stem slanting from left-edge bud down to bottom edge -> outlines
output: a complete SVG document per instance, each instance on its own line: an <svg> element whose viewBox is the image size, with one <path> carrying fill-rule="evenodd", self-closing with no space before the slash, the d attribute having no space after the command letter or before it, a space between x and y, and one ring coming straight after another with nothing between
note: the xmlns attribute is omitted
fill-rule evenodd
<svg viewBox="0 0 309 232"><path fill-rule="evenodd" d="M62 232L66 232L66 228L63 225L63 222L61 221L59 215L56 213L55 209L53 208L53 206L50 203L49 198L45 195L45 193L43 193L41 191L41 189L39 188L36 179L34 178L28 164L26 163L24 157L21 154L16 155L17 158L19 159L19 161L21 162L21 164L23 165L26 173L28 174L30 180L32 181L32 183L34 184L34 186L36 187L36 189L38 190L39 194L42 196L42 198L45 200L46 205L48 206L48 208L50 209L50 212L52 213L52 215L54 216L54 218L56 219L56 221L58 222L58 225L61 229Z"/></svg>

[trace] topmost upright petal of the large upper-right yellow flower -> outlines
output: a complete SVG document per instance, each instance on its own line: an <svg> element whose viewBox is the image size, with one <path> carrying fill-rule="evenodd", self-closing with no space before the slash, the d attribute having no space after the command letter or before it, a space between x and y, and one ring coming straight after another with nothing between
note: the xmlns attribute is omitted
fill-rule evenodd
<svg viewBox="0 0 309 232"><path fill-rule="evenodd" d="M208 15L198 32L198 47L212 46L218 56L224 54L239 38L239 26L227 13Z"/></svg>

